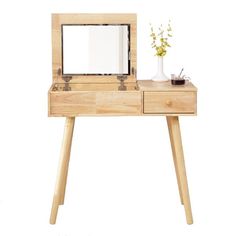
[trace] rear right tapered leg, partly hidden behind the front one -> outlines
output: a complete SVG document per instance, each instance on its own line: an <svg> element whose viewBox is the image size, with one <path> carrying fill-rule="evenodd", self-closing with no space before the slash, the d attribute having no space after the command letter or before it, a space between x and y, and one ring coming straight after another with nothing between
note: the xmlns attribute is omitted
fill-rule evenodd
<svg viewBox="0 0 236 236"><path fill-rule="evenodd" d="M168 126L168 130L169 130L169 136L170 136L170 144L171 144L171 149L172 149L173 161L174 161L174 166L175 166L176 179L177 179L178 188L179 188L180 202L181 202L181 204L184 204L181 185L180 185L179 172L178 172L178 167L177 167L177 161L176 161L176 150L175 150L174 141L173 141L173 134L172 134L171 124L170 124L170 122L171 122L170 119L171 119L170 117L168 117L168 116L166 117L167 126Z"/></svg>

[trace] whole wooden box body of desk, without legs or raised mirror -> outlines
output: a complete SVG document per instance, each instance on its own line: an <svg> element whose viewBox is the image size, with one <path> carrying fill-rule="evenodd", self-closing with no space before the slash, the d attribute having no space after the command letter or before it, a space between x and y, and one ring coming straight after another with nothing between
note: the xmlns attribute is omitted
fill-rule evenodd
<svg viewBox="0 0 236 236"><path fill-rule="evenodd" d="M55 83L48 93L49 116L196 115L197 89L150 80L126 83ZM55 90L55 91L54 91Z"/></svg>

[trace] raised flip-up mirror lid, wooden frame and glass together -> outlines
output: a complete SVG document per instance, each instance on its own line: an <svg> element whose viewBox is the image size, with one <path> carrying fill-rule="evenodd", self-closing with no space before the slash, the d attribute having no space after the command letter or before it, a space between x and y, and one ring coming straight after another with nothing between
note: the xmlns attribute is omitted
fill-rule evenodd
<svg viewBox="0 0 236 236"><path fill-rule="evenodd" d="M136 82L136 14L53 14L53 81Z"/></svg>

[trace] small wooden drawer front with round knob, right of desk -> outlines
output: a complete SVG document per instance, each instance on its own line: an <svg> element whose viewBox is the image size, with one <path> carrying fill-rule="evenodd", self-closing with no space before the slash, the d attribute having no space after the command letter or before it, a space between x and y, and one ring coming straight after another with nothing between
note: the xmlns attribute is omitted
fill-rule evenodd
<svg viewBox="0 0 236 236"><path fill-rule="evenodd" d="M196 92L144 92L144 114L195 114Z"/></svg>

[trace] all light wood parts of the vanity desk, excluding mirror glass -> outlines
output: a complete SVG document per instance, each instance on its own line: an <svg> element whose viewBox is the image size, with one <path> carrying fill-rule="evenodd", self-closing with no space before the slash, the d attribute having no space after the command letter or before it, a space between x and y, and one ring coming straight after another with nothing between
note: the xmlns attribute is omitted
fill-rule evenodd
<svg viewBox="0 0 236 236"><path fill-rule="evenodd" d="M173 86L168 82L136 81L136 14L53 14L53 84L48 92L49 116L65 116L64 138L58 167L50 223L55 224L59 205L64 204L75 116L165 115L172 147L181 203L188 224L193 223L178 115L196 115L197 88L190 82ZM117 76L73 76L64 91L62 75L62 24L129 24L130 70L127 91L119 91ZM137 82L137 84L136 84ZM57 84L57 85L56 85Z"/></svg>

